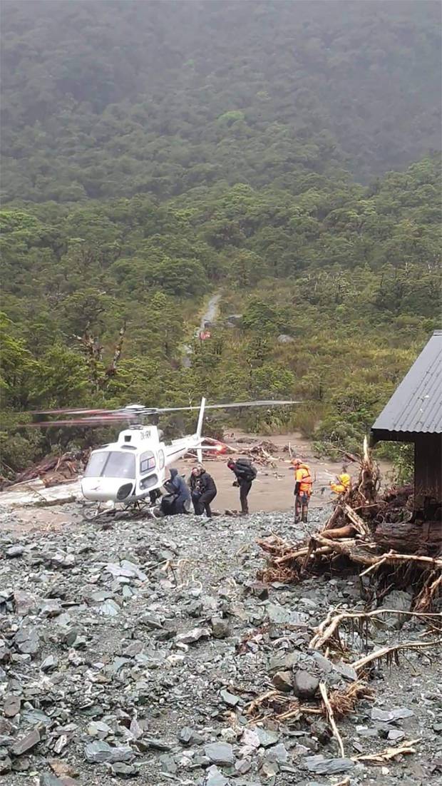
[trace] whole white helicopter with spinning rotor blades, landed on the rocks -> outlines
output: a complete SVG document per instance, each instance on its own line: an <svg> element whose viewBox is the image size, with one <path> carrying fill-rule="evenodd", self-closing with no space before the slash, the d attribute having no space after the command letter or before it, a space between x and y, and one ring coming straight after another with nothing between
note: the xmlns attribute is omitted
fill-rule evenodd
<svg viewBox="0 0 442 786"><path fill-rule="evenodd" d="M93 450L80 479L84 498L83 516L93 520L104 513L122 509L132 512L145 511L155 517L155 498L166 483L167 468L188 453L195 451L198 461L203 460L203 450L224 450L223 443L204 445L203 419L206 410L222 410L252 406L284 406L295 401L254 401L228 404L209 404L201 399L198 406L146 407L129 404L119 410L51 410L35 413L44 415L68 414L58 421L38 421L33 426L101 426L126 421L127 428L118 439ZM169 443L163 441L163 432L156 424L145 424L148 417L158 420L162 413L199 410L194 434L188 434ZM155 494L156 492L156 494Z"/></svg>

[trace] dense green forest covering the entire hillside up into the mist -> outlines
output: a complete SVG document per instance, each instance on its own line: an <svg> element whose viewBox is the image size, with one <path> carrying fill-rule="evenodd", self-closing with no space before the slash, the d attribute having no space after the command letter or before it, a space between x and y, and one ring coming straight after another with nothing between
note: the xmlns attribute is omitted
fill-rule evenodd
<svg viewBox="0 0 442 786"><path fill-rule="evenodd" d="M302 399L246 424L360 449L440 327L439 16L2 4L5 475L93 439L21 413L202 394Z"/></svg>

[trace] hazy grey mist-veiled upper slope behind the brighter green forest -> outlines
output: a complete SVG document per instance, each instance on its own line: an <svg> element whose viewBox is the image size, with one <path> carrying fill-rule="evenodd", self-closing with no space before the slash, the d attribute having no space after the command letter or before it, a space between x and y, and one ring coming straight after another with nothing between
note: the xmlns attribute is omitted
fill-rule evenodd
<svg viewBox="0 0 442 786"><path fill-rule="evenodd" d="M360 182L440 145L438 2L2 3L4 198Z"/></svg>

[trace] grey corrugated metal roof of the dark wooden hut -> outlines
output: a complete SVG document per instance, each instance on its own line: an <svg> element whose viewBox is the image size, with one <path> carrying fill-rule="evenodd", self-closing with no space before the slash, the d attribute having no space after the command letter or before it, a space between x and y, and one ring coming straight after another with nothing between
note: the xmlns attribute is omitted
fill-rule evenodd
<svg viewBox="0 0 442 786"><path fill-rule="evenodd" d="M442 433L442 330L433 333L371 430Z"/></svg>

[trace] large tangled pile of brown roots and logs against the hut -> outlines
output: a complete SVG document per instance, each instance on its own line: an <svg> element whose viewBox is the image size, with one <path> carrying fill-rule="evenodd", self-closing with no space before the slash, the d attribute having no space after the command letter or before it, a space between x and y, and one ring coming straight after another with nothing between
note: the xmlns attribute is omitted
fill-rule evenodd
<svg viewBox="0 0 442 786"><path fill-rule="evenodd" d="M430 612L442 597L442 526L411 520L411 487L379 494L379 472L364 446L360 476L338 497L323 530L291 543L258 541L267 553L259 577L265 582L300 582L315 573L360 567L371 585L415 589L414 610Z"/></svg>

